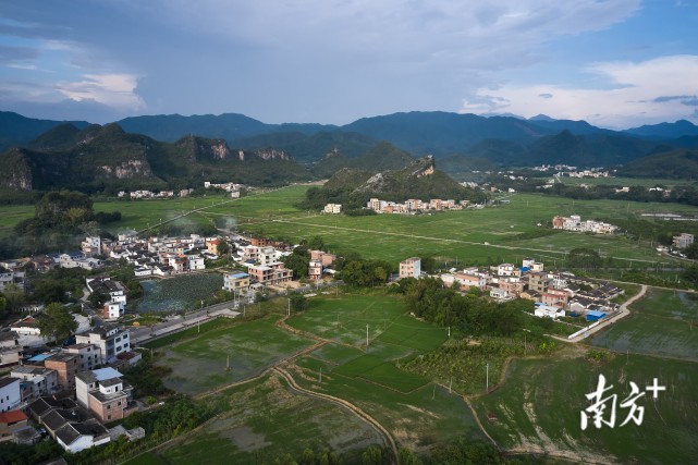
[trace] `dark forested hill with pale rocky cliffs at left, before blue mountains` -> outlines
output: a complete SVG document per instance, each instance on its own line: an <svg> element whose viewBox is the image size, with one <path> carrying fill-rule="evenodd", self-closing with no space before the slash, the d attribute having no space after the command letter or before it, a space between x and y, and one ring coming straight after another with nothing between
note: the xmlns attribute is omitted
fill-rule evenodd
<svg viewBox="0 0 698 465"><path fill-rule="evenodd" d="M0 156L0 187L177 189L205 181L275 185L305 181L306 168L279 150L233 150L225 140L187 136L175 143L127 134L117 124L60 125Z"/></svg>

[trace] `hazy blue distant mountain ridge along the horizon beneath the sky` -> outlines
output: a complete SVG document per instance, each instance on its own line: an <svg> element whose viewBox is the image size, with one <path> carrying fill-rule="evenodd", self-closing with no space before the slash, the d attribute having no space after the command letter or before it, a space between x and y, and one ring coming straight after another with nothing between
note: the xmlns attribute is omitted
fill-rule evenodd
<svg viewBox="0 0 698 465"><path fill-rule="evenodd" d="M22 135L5 143L35 151L70 151L76 144L87 143L93 137L90 131L99 132L102 127L86 122L71 126L8 112L0 117L11 120L16 134ZM698 147L698 126L685 120L623 132L546 115L525 120L514 115L485 118L440 111L363 118L343 126L266 124L236 113L135 117L122 120L119 125L123 125L126 134L148 137L152 146L194 136L223 140L228 147L260 154L262 158L264 154L283 154L286 161L304 164L307 175L316 178L327 178L341 168L359 164L365 164L368 171L395 169L408 162L408 157L425 155L448 159L442 168L456 174L473 163L482 168L489 163L492 169L551 163L616 166L658 151ZM27 134L44 127L48 127L45 133L37 134L33 142L26 140ZM2 130L11 138L12 132L4 126ZM24 142L20 140L22 137ZM382 157L390 158L384 162L376 156L362 158L381 142L390 143L406 156L389 149L381 151ZM164 151L170 154L172 149ZM157 164L157 157L155 159ZM188 170L188 167L182 168Z"/></svg>

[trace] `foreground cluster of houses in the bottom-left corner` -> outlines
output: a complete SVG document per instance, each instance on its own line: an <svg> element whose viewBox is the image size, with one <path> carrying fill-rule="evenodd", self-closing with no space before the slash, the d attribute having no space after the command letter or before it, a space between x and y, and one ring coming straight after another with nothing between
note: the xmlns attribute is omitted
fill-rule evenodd
<svg viewBox="0 0 698 465"><path fill-rule="evenodd" d="M0 378L0 441L33 444L41 439L29 419L69 452L79 452L125 435L145 436L142 428L107 429L105 424L123 419L138 409L133 388L118 370L140 359L131 351L127 328L105 326L75 335L75 343L51 351L24 353L19 335L3 332L3 352L19 359L4 364Z"/></svg>

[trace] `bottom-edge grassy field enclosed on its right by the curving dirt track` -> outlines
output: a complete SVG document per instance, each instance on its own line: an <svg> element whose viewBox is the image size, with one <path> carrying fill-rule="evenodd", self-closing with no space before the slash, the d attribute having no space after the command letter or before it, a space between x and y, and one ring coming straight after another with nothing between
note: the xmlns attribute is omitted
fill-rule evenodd
<svg viewBox="0 0 698 465"><path fill-rule="evenodd" d="M380 436L339 405L290 391L285 382L266 376L231 388L213 402L222 411L212 421L180 443L145 457L170 464L272 463L306 448L332 449L345 463L360 461L358 450L382 443Z"/></svg>

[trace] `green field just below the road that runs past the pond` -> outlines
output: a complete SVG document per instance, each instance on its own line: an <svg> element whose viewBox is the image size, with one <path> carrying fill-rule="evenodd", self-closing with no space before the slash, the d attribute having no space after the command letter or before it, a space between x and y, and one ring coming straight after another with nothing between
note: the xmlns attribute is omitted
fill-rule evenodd
<svg viewBox="0 0 698 465"><path fill-rule="evenodd" d="M212 329L169 347L158 362L173 367L164 384L177 392L198 394L258 375L310 345L305 338L277 328L278 319L269 316ZM195 328L187 331L191 330L196 331Z"/></svg>

